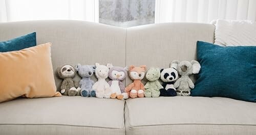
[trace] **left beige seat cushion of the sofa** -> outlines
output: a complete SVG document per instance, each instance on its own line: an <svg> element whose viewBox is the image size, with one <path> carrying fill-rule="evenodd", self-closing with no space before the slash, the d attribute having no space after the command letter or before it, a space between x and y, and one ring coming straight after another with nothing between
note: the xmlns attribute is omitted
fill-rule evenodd
<svg viewBox="0 0 256 135"><path fill-rule="evenodd" d="M3 134L125 134L124 101L81 96L0 103Z"/></svg>

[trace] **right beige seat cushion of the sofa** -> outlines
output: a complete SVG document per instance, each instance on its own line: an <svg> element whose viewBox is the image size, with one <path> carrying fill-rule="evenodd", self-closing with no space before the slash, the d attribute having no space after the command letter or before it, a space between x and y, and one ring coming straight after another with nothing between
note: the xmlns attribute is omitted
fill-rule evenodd
<svg viewBox="0 0 256 135"><path fill-rule="evenodd" d="M126 100L126 134L255 134L256 103L222 97Z"/></svg>

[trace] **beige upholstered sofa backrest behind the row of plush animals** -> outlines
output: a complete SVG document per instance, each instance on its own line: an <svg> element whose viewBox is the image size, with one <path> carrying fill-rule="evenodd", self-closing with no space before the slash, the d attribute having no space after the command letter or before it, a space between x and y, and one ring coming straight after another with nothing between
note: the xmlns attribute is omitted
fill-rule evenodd
<svg viewBox="0 0 256 135"><path fill-rule="evenodd" d="M160 23L123 29L85 21L39 20L0 23L0 41L36 32L37 44L52 42L59 90L61 79L56 69L64 64L98 62L167 68L173 60L196 59L196 42L214 42L214 30L214 25L201 23ZM131 81L127 77L125 85Z"/></svg>

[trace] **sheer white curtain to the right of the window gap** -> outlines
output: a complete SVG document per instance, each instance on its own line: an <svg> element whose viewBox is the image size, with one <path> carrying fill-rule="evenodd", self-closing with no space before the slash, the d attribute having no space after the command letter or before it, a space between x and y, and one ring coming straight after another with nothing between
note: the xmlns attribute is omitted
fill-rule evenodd
<svg viewBox="0 0 256 135"><path fill-rule="evenodd" d="M155 23L256 20L256 0L156 0Z"/></svg>

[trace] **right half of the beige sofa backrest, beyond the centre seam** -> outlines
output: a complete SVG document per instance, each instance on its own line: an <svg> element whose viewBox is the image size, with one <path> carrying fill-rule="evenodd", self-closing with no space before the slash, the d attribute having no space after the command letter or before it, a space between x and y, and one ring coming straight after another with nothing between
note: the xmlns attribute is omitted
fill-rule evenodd
<svg viewBox="0 0 256 135"><path fill-rule="evenodd" d="M127 28L126 66L168 68L173 60L195 60L198 40L214 42L215 26L203 23L160 23ZM191 76L192 80L195 80ZM132 82L129 76L125 84ZM146 79L142 81L144 84Z"/></svg>

